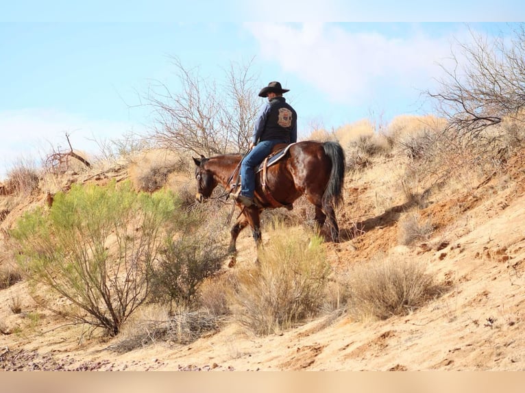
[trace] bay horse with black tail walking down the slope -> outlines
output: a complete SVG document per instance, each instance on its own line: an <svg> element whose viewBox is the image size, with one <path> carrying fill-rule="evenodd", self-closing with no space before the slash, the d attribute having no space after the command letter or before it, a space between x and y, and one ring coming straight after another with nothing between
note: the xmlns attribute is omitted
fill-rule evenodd
<svg viewBox="0 0 525 393"><path fill-rule="evenodd" d="M274 151L286 145L278 144ZM243 156L223 154L200 159L193 157L197 168L197 194L195 199L202 203L221 184L226 191L236 185L232 183L240 169ZM241 214L230 230L229 253L236 252L236 239L249 225L256 245L260 245L260 213L265 209L288 207L301 197L315 206L315 223L321 230L327 225L330 240L339 242L339 226L334 208L343 201L345 177L345 155L338 142L303 141L289 145L288 151L276 164L268 166L256 175L255 204L245 207L236 205ZM240 185L239 185L240 186Z"/></svg>

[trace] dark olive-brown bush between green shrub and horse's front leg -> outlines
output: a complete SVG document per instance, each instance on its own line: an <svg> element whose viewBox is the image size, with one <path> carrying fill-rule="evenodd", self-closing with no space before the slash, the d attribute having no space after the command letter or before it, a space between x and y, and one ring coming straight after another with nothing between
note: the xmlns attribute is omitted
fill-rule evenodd
<svg viewBox="0 0 525 393"><path fill-rule="evenodd" d="M212 231L186 232L170 240L153 272L154 299L184 307L196 305L199 286L221 268L225 250Z"/></svg>

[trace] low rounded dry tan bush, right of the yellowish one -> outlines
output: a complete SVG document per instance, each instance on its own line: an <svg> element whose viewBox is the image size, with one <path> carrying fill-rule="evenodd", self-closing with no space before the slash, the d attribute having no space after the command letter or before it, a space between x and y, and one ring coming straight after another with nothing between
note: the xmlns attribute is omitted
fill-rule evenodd
<svg viewBox="0 0 525 393"><path fill-rule="evenodd" d="M422 264L399 259L358 264L350 272L348 312L356 320L406 315L436 296Z"/></svg>

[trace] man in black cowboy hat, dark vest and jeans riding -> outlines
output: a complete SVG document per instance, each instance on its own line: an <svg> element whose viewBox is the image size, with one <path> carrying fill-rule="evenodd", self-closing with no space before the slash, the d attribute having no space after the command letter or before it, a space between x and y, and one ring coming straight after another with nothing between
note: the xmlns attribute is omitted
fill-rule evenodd
<svg viewBox="0 0 525 393"><path fill-rule="evenodd" d="M241 163L241 192L233 195L246 207L254 204L255 168L276 144L297 142L297 112L282 97L289 91L273 81L259 92L259 97L267 97L268 102L259 112L249 153Z"/></svg>

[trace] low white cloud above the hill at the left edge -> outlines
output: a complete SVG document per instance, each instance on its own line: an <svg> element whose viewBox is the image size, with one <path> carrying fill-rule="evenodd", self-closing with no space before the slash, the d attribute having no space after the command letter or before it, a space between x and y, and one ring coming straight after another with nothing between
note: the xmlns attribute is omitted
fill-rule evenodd
<svg viewBox="0 0 525 393"><path fill-rule="evenodd" d="M98 153L96 140L119 138L132 129L131 123L92 121L55 110L27 109L0 112L0 179L19 160L38 161L60 149Z"/></svg>

